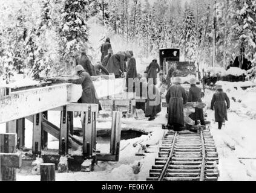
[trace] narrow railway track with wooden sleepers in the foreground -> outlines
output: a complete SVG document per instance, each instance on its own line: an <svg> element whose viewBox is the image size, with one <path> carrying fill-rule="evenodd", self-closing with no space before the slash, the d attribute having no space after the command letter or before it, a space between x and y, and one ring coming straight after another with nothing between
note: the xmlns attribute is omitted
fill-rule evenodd
<svg viewBox="0 0 256 193"><path fill-rule="evenodd" d="M209 131L168 131L146 180L218 180L218 154Z"/></svg>

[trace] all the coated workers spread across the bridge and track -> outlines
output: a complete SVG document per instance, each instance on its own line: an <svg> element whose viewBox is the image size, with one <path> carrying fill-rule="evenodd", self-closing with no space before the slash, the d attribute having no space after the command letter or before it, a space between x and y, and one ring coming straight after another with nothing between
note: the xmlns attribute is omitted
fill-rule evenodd
<svg viewBox="0 0 256 193"><path fill-rule="evenodd" d="M82 96L78 103L99 104L99 110L101 110L99 98L97 97L96 89L94 88L91 76L99 74L113 73L116 78L124 77L126 72L126 85L128 87L128 78L138 78L136 70L136 59L134 58L133 51L117 52L113 54L110 39L107 38L106 42L101 46L101 63L93 66L90 59L87 57L84 48L81 49L81 54L76 59L76 72L79 78L76 81L72 81L75 84L82 85ZM126 62L128 63L126 67ZM145 112L145 116L149 117L149 121L155 119L157 113L161 111L161 96L156 87L157 73L160 72L160 66L157 60L154 59L146 69L146 77L140 78L140 95L143 95L142 90L147 90L146 102L143 104L136 103L136 109L142 109ZM168 92L166 93L166 103L168 104L168 123L167 126L173 127L174 130L181 130L184 127L184 113L183 105L187 102L199 102L202 103L202 90L196 86L195 78L191 78L189 92L181 86L182 80L180 77L175 77L171 84L172 71L168 73L166 77L168 82ZM149 78L153 81L149 81ZM149 91L153 91L155 98L149 97ZM154 101L158 101L154 103ZM217 85L217 92L214 93L211 101L211 109L215 110L215 121L218 122L218 128L222 128L223 122L228 120L227 109L229 109L229 98L225 92L223 92L222 86ZM191 119L195 121L195 125L198 124L197 120L200 120L201 125L205 125L205 119L203 110L195 108L195 112L190 115Z"/></svg>

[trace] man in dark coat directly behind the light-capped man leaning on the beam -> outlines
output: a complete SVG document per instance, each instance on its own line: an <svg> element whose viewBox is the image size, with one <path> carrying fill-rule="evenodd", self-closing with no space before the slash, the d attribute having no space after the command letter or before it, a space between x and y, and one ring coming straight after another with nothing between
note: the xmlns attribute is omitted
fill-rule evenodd
<svg viewBox="0 0 256 193"><path fill-rule="evenodd" d="M80 52L81 55L79 55L79 57L76 58L76 66L81 65L84 68L84 70L88 72L88 74L90 74L91 76L96 75L94 72L94 67L91 64L91 60L88 58L86 54L85 48L81 48Z"/></svg>

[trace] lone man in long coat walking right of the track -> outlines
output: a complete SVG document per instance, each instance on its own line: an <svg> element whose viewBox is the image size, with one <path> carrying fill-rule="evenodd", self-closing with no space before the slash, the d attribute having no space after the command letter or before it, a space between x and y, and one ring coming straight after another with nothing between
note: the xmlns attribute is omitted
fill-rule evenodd
<svg viewBox="0 0 256 193"><path fill-rule="evenodd" d="M228 95L223 92L222 85L217 84L217 92L212 96L211 110L215 113L215 122L218 122L218 129L222 129L223 122L228 121L227 109L230 107Z"/></svg>

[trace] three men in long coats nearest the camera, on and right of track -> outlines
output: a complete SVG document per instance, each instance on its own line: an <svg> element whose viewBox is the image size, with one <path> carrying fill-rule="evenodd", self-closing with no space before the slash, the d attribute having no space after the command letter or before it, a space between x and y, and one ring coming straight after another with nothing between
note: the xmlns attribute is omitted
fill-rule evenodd
<svg viewBox="0 0 256 193"><path fill-rule="evenodd" d="M181 86L181 78L175 77L172 86L166 93L166 103L168 103L168 124L167 127L173 127L174 130L181 130L184 126L183 105L187 102L202 103L202 90L196 86L195 78L189 81L191 87L189 92ZM211 110L215 111L215 122L218 122L218 129L222 129L223 122L228 121L227 109L230 107L228 95L223 92L222 85L217 85L217 92L214 93L211 100ZM195 112L189 117L198 124L205 125L205 116L203 109L195 108Z"/></svg>

